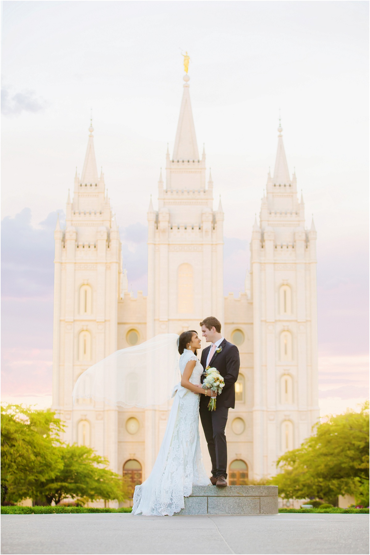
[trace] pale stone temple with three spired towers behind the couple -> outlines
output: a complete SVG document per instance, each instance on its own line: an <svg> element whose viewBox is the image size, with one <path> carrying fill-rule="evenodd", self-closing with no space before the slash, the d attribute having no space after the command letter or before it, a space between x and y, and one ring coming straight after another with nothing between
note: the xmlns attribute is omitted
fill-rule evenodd
<svg viewBox="0 0 370 555"><path fill-rule="evenodd" d="M67 224L55 229L53 408L67 423L65 440L90 445L116 472L145 479L164 435L169 401L156 410L72 405L78 376L117 349L156 334L199 329L208 315L240 351L236 406L226 427L229 481L275 473L275 461L310 435L319 415L317 385L316 230L305 228L303 199L290 179L281 127L275 171L268 174L260 223L251 238L245 292L223 293L221 202L214 210L211 175L196 143L189 77L158 211L148 210L148 296L128 291L118 226L103 173L98 176L90 127L81 177L76 173ZM203 347L205 346L202 345ZM202 452L210 466L204 436Z"/></svg>

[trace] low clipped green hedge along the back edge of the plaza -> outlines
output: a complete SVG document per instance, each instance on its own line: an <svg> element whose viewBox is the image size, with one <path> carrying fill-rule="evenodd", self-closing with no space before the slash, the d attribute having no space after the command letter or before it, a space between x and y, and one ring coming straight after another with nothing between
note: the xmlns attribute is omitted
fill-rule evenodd
<svg viewBox="0 0 370 555"><path fill-rule="evenodd" d="M98 507L19 507L17 505L10 505L1 507L1 514L76 514L76 513L130 513L131 507L122 507L120 509L98 508ZM332 507L329 509L279 509L279 513L350 513L350 514L366 514L369 509L339 509Z"/></svg>

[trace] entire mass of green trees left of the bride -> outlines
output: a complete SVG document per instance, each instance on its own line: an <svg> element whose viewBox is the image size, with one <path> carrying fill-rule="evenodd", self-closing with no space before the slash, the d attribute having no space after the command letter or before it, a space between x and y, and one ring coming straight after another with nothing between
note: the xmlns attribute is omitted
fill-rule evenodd
<svg viewBox="0 0 370 555"><path fill-rule="evenodd" d="M108 460L85 446L65 445L55 413L30 407L1 407L1 504L32 498L35 505L130 497L129 483Z"/></svg>

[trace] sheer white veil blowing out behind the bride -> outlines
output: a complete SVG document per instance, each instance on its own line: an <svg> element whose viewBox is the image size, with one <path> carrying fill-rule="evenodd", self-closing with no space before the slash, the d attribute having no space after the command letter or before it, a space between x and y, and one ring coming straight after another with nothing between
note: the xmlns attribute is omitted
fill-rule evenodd
<svg viewBox="0 0 370 555"><path fill-rule="evenodd" d="M73 403L93 398L109 405L149 407L171 398L179 381L178 334L160 334L90 366L73 388Z"/></svg>

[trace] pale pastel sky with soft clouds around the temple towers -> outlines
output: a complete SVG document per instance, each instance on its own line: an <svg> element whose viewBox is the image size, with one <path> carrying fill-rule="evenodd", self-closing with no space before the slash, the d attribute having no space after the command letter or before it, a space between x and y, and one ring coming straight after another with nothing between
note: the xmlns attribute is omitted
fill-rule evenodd
<svg viewBox="0 0 370 555"><path fill-rule="evenodd" d="M2 398L50 403L53 229L93 112L129 282L173 149L181 52L225 211L225 294L244 287L279 109L318 233L322 413L368 396L368 3L3 2Z"/></svg>

